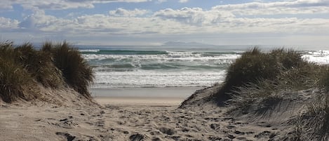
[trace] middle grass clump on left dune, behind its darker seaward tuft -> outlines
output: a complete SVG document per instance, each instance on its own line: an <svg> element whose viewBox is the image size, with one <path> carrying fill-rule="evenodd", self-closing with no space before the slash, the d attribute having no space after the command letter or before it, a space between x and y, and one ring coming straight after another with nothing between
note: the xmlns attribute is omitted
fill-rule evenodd
<svg viewBox="0 0 329 141"><path fill-rule="evenodd" d="M51 88L62 86L62 74L53 65L50 53L36 51L31 43L24 43L15 48L15 51L20 56L18 61L36 81Z"/></svg>

